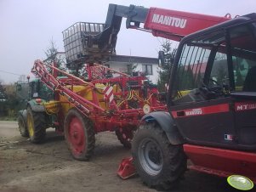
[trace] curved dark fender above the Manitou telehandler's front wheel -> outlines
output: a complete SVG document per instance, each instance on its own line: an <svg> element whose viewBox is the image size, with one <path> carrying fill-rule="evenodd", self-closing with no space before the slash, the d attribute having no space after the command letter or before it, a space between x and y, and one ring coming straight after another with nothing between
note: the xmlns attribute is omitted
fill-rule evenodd
<svg viewBox="0 0 256 192"><path fill-rule="evenodd" d="M184 144L185 140L179 133L174 119L168 112L156 111L142 117L142 121L156 121L166 133L171 144Z"/></svg>

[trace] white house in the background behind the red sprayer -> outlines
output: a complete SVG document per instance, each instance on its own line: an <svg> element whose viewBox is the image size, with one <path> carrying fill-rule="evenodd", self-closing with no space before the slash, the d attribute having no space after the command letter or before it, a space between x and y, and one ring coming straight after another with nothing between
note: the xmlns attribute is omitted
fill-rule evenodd
<svg viewBox="0 0 256 192"><path fill-rule="evenodd" d="M58 52L56 57L65 60L65 52ZM47 60L47 59L46 59ZM159 76L158 59L138 56L112 55L103 65L122 73L140 72L156 84Z"/></svg>

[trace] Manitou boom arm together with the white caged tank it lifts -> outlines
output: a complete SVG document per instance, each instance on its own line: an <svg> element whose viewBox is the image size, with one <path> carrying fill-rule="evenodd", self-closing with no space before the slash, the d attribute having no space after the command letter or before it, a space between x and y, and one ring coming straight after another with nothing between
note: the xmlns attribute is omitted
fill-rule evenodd
<svg viewBox="0 0 256 192"><path fill-rule="evenodd" d="M153 36L174 41L180 41L195 31L230 20L230 17L191 14L163 8L110 4L105 24L78 22L63 31L67 62L101 62L115 54L122 18L127 18L127 28L148 31Z"/></svg>

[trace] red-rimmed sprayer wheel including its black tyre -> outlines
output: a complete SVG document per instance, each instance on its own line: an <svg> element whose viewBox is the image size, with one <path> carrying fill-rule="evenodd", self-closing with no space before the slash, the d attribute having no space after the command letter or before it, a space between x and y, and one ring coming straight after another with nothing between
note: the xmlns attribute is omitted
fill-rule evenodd
<svg viewBox="0 0 256 192"><path fill-rule="evenodd" d="M95 145L93 122L77 110L71 109L65 116L64 134L74 159L88 161Z"/></svg>

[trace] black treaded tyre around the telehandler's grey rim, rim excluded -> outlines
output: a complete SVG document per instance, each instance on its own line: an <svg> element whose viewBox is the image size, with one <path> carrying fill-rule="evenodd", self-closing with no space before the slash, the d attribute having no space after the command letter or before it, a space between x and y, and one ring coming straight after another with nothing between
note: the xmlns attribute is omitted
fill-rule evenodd
<svg viewBox="0 0 256 192"><path fill-rule="evenodd" d="M139 146L141 138L145 137L157 138L158 144L162 146L162 153L164 153L163 155L165 156L164 158L167 158L165 162L168 163L163 165L162 171L155 177L147 174L140 166L139 157L137 155L138 150L135 149ZM164 133L162 128L159 127L155 121L141 125L134 134L132 155L134 158L134 166L136 167L140 178L145 184L152 188L166 190L176 187L187 169L186 156L182 144L170 144L166 133Z"/></svg>

